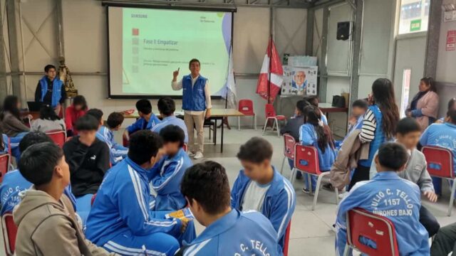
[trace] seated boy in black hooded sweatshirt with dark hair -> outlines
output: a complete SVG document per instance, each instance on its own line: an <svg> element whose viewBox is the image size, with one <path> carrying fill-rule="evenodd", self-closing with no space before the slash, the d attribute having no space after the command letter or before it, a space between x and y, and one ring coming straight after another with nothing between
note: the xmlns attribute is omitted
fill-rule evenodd
<svg viewBox="0 0 456 256"><path fill-rule="evenodd" d="M63 144L71 172L71 186L76 197L97 193L109 169L109 148L95 137L98 120L90 114L78 119L78 136Z"/></svg>

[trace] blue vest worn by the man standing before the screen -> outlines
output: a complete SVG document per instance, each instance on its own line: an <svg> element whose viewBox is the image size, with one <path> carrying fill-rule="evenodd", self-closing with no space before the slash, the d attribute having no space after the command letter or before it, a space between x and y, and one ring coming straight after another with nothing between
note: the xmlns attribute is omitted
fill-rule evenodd
<svg viewBox="0 0 456 256"><path fill-rule="evenodd" d="M192 86L192 75L184 75L182 78L182 110L204 111L206 110L206 94L204 87L207 79L201 75Z"/></svg>

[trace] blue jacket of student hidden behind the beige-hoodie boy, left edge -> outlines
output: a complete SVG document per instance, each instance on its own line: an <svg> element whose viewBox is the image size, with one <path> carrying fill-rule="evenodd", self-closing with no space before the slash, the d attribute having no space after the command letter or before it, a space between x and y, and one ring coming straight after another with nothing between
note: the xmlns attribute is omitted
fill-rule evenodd
<svg viewBox="0 0 456 256"><path fill-rule="evenodd" d="M0 185L0 215L11 213L14 206L21 203L19 193L30 188L31 185L32 184L22 176L18 169L7 172ZM73 208L76 211L76 198L73 196L73 193L71 193L71 185L68 185L63 193L70 198L71 203L73 203Z"/></svg>

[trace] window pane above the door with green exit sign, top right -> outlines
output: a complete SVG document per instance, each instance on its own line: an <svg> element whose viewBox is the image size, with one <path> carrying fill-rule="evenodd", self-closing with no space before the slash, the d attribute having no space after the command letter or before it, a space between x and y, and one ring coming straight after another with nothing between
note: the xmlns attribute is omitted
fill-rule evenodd
<svg viewBox="0 0 456 256"><path fill-rule="evenodd" d="M401 0L399 34L427 31L430 0Z"/></svg>

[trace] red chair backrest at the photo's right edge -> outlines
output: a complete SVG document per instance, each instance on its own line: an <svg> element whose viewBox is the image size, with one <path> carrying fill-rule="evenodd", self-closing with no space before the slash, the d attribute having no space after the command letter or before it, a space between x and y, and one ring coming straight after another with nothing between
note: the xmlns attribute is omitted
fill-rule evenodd
<svg viewBox="0 0 456 256"><path fill-rule="evenodd" d="M453 154L450 149L440 146L423 146L421 149L427 162L427 171L431 176L455 178Z"/></svg>

